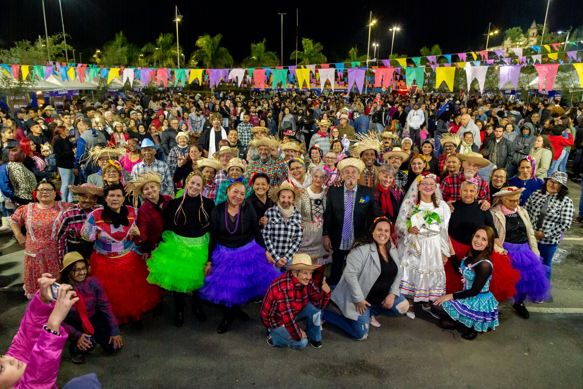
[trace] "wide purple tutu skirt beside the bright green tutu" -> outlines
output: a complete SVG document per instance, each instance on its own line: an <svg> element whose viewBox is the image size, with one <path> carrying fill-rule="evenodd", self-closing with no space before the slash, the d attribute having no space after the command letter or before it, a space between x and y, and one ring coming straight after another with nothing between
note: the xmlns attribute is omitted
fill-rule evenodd
<svg viewBox="0 0 583 389"><path fill-rule="evenodd" d="M272 264L268 264L265 248L255 240L237 248L217 244L212 258L210 275L205 278L205 284L198 293L208 302L227 307L265 296L271 282L282 275Z"/></svg>

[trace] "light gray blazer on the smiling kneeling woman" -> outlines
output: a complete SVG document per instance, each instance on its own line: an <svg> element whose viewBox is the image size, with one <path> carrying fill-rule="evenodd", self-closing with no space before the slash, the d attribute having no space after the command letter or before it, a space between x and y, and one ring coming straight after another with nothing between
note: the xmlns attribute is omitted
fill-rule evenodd
<svg viewBox="0 0 583 389"><path fill-rule="evenodd" d="M391 285L389 293L399 296L399 283L403 268L396 260L399 258L397 250L391 244L391 258L397 265L397 275ZM342 314L352 320L358 320L359 313L354 303L366 299L374 282L381 275L381 262L378 258L377 247L374 243L354 248L346 258L346 268L340 282L333 290L331 299L340 308Z"/></svg>

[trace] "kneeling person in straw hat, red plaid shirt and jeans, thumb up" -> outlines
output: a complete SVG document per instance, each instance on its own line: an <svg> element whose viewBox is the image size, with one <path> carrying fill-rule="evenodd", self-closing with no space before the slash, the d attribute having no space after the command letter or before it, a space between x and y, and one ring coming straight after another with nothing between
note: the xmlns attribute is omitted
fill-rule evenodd
<svg viewBox="0 0 583 389"><path fill-rule="evenodd" d="M312 271L318 265L312 265L308 254L294 255L286 268L289 271L269 286L261 307L261 318L268 330L267 343L303 349L309 341L314 348L320 348L320 313L330 299L330 287L325 277L322 289L312 281ZM297 325L304 318L305 332Z"/></svg>

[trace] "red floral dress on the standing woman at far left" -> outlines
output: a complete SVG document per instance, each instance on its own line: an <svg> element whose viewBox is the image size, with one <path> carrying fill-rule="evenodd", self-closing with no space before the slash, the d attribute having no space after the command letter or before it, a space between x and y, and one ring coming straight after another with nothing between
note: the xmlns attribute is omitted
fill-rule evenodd
<svg viewBox="0 0 583 389"><path fill-rule="evenodd" d="M57 248L58 215L73 204L55 201L50 208L38 208L38 203L31 202L19 206L10 216L10 223L26 226L26 244L24 245L24 294L29 299L38 289L37 280L43 273L57 277L61 270L61 260Z"/></svg>

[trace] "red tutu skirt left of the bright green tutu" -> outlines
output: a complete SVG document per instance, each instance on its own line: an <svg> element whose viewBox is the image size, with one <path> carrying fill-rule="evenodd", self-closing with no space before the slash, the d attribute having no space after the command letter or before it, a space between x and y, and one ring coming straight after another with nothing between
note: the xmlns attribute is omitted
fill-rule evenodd
<svg viewBox="0 0 583 389"><path fill-rule="evenodd" d="M146 281L146 262L135 251L117 258L93 251L90 261L91 274L103 283L120 324L140 320L143 313L161 302L163 290Z"/></svg>

